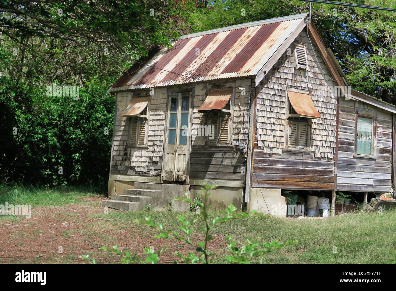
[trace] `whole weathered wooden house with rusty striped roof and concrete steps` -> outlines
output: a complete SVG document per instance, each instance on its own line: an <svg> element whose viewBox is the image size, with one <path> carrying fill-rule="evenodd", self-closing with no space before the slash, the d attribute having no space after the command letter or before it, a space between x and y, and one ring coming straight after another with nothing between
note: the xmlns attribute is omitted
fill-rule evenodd
<svg viewBox="0 0 396 291"><path fill-rule="evenodd" d="M183 210L209 183L215 206L272 212L285 191L393 186L396 108L350 89L307 13L182 36L109 92L105 206Z"/></svg>

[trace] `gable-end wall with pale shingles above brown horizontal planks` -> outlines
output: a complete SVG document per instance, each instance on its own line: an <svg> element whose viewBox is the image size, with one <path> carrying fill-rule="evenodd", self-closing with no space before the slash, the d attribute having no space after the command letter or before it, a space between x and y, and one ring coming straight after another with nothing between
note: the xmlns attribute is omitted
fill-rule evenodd
<svg viewBox="0 0 396 291"><path fill-rule="evenodd" d="M308 70L295 69L295 45L307 47ZM307 32L299 34L257 86L253 187L282 189L333 189L337 99L327 86L336 86ZM307 150L285 149L286 91L312 91L321 119L308 121Z"/></svg>

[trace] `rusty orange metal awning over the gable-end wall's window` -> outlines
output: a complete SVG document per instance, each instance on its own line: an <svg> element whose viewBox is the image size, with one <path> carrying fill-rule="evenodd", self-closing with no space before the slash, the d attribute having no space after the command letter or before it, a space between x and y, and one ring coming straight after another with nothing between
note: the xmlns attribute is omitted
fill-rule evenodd
<svg viewBox="0 0 396 291"><path fill-rule="evenodd" d="M312 103L312 92L309 92L309 94L304 94L288 91L287 97L289 97L291 107L293 107L294 111L297 113L290 114L291 116L315 119L321 118L320 113L314 106L314 103Z"/></svg>

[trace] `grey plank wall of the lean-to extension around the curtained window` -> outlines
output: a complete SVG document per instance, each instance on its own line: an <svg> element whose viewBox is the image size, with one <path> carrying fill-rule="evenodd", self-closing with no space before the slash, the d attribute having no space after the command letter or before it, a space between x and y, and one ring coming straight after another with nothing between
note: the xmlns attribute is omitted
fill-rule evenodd
<svg viewBox="0 0 396 291"><path fill-rule="evenodd" d="M354 155L356 111L377 116L375 158ZM376 144L375 144L376 143ZM392 183L392 113L340 97L337 190L388 192Z"/></svg>

